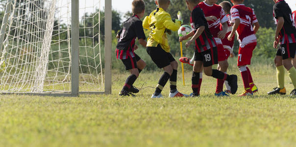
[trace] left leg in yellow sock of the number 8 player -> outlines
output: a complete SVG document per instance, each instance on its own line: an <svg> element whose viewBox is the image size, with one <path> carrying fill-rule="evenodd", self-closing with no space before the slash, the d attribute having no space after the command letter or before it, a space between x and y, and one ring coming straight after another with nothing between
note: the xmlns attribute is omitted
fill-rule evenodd
<svg viewBox="0 0 296 147"><path fill-rule="evenodd" d="M274 95L274 94L286 95L285 68L283 66L281 48L277 49L276 56L274 58L274 64L276 67L277 87L273 88L273 90L271 92L268 92L267 94L268 95Z"/></svg>

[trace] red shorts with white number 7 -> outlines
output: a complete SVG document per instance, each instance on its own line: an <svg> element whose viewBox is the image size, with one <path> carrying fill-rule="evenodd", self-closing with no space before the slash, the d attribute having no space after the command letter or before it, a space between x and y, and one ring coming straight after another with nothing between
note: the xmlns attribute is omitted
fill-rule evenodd
<svg viewBox="0 0 296 147"><path fill-rule="evenodd" d="M237 66L245 66L251 64L251 58L253 50L256 48L257 43L251 43L246 45L244 48L239 49L239 58L237 60Z"/></svg>

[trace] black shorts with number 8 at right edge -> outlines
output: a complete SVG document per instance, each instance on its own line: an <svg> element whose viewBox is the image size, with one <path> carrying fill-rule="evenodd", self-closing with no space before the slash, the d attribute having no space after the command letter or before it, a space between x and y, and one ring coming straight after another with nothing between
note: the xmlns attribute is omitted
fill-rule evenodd
<svg viewBox="0 0 296 147"><path fill-rule="evenodd" d="M296 53L296 43L279 45L276 51L276 55L282 56L283 60L288 58L295 58L295 53Z"/></svg>

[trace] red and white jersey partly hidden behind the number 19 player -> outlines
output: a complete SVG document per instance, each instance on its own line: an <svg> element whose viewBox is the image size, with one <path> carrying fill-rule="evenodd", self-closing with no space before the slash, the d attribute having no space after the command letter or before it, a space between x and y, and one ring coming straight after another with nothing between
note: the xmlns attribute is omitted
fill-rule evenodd
<svg viewBox="0 0 296 147"><path fill-rule="evenodd" d="M214 38L218 38L218 33L220 32L220 23L223 24L228 21L224 10L218 4L208 5L205 2L200 2L198 6L202 9L205 17L215 16L217 21L208 21L210 32Z"/></svg>

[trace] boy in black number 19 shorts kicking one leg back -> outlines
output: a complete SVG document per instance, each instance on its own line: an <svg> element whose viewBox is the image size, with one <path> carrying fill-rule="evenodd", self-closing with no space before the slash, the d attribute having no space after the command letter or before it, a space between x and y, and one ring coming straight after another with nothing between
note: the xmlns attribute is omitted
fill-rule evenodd
<svg viewBox="0 0 296 147"><path fill-rule="evenodd" d="M192 74L192 97L199 96L199 71L201 71L202 65L204 66L203 69L206 75L227 80L231 88L231 93L235 94L237 91L237 76L212 70L212 65L218 63L217 44L208 28L204 13L198 6L198 2L199 0L186 0L187 8L192 11L190 23L195 30L194 34L191 34L193 37L186 43L186 47L189 47L193 42L196 43Z"/></svg>

